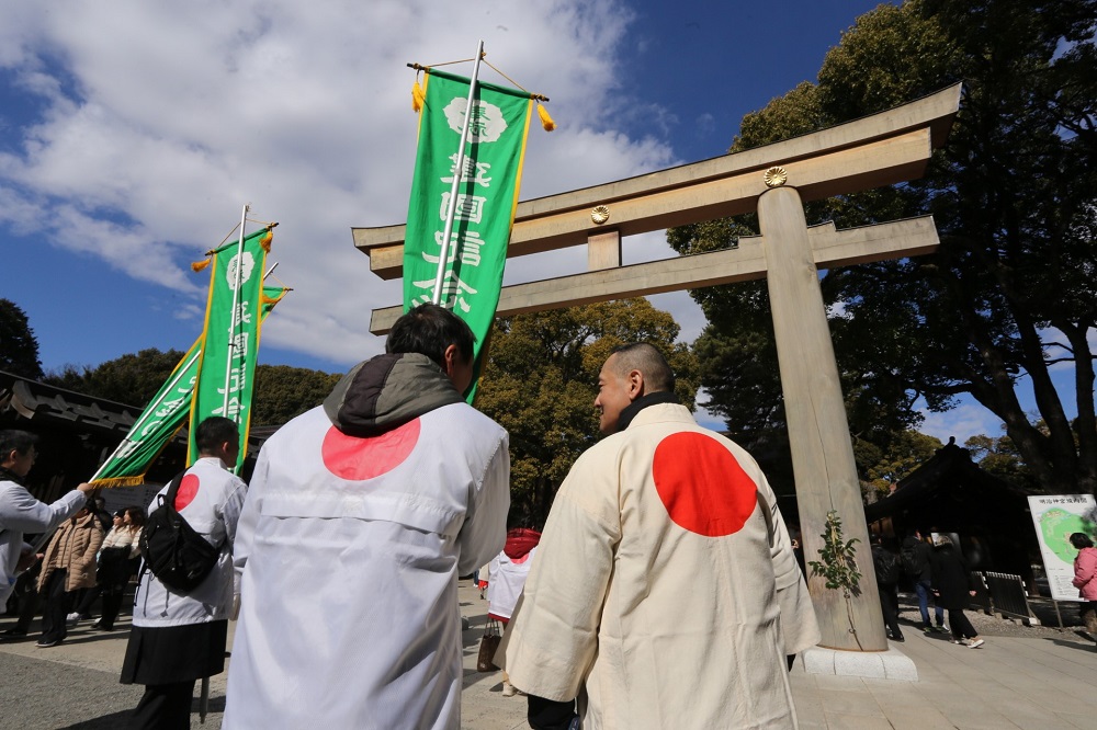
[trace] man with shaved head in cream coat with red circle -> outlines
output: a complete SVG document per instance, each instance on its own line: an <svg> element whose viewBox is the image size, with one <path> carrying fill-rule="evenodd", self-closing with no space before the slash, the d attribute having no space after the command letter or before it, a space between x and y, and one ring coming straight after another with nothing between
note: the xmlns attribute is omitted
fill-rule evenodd
<svg viewBox="0 0 1097 730"><path fill-rule="evenodd" d="M777 500L675 399L649 344L598 379L612 434L552 505L496 662L534 728L790 728L785 657L818 627Z"/></svg>

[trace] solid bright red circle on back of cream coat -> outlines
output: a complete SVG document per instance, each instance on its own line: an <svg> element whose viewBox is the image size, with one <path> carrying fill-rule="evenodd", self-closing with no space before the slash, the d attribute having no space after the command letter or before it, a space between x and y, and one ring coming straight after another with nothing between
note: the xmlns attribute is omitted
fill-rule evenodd
<svg viewBox="0 0 1097 730"><path fill-rule="evenodd" d="M739 532L758 503L758 486L723 444L702 433L659 442L652 478L674 523L706 537Z"/></svg>

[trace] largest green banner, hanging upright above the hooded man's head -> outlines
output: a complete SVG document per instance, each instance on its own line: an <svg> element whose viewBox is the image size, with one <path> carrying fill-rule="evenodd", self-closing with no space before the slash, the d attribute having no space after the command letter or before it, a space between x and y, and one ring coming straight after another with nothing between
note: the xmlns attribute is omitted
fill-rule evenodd
<svg viewBox="0 0 1097 730"><path fill-rule="evenodd" d="M468 84L460 76L427 72L404 241L404 311L433 300ZM477 375L502 288L532 109L527 92L476 84L439 304L476 335Z"/></svg>

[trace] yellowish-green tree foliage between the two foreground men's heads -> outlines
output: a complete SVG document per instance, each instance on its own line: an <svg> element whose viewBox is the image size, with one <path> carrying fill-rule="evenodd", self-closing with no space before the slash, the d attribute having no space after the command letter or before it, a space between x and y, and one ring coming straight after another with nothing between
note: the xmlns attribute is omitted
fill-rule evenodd
<svg viewBox="0 0 1097 730"><path fill-rule="evenodd" d="M476 407L510 433L511 521L540 527L579 454L598 438L593 402L610 350L651 342L692 407L698 374L676 344L679 328L646 299L627 299L496 320Z"/></svg>

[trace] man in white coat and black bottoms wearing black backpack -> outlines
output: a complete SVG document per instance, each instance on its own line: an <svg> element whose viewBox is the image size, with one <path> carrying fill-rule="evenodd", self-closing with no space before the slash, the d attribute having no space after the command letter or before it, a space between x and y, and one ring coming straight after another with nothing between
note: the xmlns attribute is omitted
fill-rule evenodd
<svg viewBox="0 0 1097 730"><path fill-rule="evenodd" d="M122 663L122 684L144 684L131 717L133 730L191 727L191 698L197 680L225 671L228 619L235 574L233 540L247 486L229 471L240 454L235 421L213 415L194 434L199 458L186 469L176 493L176 510L207 543L218 547L217 562L205 580L185 593L170 589L142 566L134 595L134 626ZM148 506L160 505L170 484Z"/></svg>

